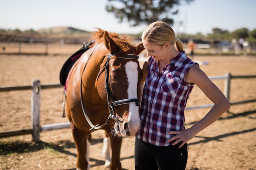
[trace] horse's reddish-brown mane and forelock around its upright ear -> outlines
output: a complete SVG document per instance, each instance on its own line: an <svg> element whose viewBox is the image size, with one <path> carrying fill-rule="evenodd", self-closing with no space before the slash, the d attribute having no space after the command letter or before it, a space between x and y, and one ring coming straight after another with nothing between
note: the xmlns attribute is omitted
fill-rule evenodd
<svg viewBox="0 0 256 170"><path fill-rule="evenodd" d="M103 42L103 34L104 34L104 30L100 29L100 28L97 28L98 31L95 31L91 40L96 40L98 42ZM116 44L121 48L121 50L124 52L124 53L128 53L128 51L131 51L131 49L134 49L134 45L133 42L134 40L130 40L128 35L126 34L123 34L123 36L120 36L119 37L119 34L116 34L116 33L109 33L109 36L110 38L112 38ZM90 40L90 41L91 41Z"/></svg>

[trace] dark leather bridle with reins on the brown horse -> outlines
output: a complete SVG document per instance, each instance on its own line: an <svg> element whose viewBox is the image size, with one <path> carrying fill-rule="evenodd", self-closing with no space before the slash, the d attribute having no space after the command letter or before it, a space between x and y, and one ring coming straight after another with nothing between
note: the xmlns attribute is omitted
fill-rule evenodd
<svg viewBox="0 0 256 170"><path fill-rule="evenodd" d="M95 45L96 46L96 45ZM95 46L94 46L94 49L95 49ZM93 50L94 50L93 49ZM93 52L93 50L91 51L91 54ZM91 54L89 57L91 57ZM91 130L93 129L100 129L104 126L106 126L111 119L115 120L115 121L118 121L118 122L123 122L123 120L119 120L116 116L115 116L115 111L113 109L113 107L115 106L119 106L119 105L123 105L123 104L129 104L129 103L135 103L137 106L139 105L139 100L137 98L132 98L132 99L122 99L122 100L117 100L115 101L114 100L114 97L113 97L113 93L111 91L111 88L110 88L110 59L138 59L139 56L138 55L135 55L135 54L128 54L128 55L125 55L125 56L120 56L120 57L117 57L115 56L116 54L108 54L107 55L107 60L105 62L105 64L103 65L103 67L101 68L98 76L97 76L97 80L99 79L99 76L101 75L101 73L105 70L105 90L107 92L107 100L108 100L108 105L109 105L109 112L110 112L110 115L109 115L109 118L107 119L107 121L99 126L99 124L97 125L93 125L91 123L91 120L89 119L86 111L85 111L85 106L84 106L84 102L83 102L83 98L82 98L82 76L81 76L81 85L80 85L80 97L81 97L81 104L82 104L82 111L84 113L84 116L87 120L87 122L89 123L89 125L91 126ZM89 59L88 59L89 60ZM87 62L88 62L87 60ZM85 64L84 68L83 68L83 71L86 67L87 63ZM83 73L82 71L82 73ZM112 101L112 102L111 102Z"/></svg>

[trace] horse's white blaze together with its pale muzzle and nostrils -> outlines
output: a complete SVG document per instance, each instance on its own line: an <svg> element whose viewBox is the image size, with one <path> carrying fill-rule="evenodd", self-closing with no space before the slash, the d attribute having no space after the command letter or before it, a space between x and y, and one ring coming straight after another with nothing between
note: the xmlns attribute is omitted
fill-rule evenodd
<svg viewBox="0 0 256 170"><path fill-rule="evenodd" d="M126 75L128 79L128 98L137 98L138 84L138 64L134 61L129 61L125 65ZM124 123L124 127L119 123L115 124L115 130L120 136L135 135L140 127L139 109L135 103L129 103L128 120ZM129 132L129 133L127 133Z"/></svg>

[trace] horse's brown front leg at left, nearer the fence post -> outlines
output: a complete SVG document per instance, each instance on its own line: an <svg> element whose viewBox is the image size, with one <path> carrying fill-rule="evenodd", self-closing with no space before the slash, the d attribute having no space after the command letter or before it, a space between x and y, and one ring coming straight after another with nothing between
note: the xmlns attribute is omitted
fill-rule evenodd
<svg viewBox="0 0 256 170"><path fill-rule="evenodd" d="M74 126L71 121L71 129L74 139L74 144L77 150L77 170L89 170L89 146L91 144L91 134L82 134L82 132Z"/></svg>

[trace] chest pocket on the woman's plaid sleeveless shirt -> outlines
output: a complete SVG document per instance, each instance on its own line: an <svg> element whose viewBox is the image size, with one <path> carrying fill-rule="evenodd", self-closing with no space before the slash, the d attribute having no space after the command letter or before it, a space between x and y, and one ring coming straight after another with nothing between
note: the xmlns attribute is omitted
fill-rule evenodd
<svg viewBox="0 0 256 170"><path fill-rule="evenodd" d="M167 74L164 78L161 90L166 93L175 94L181 84L181 78Z"/></svg>

